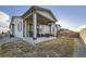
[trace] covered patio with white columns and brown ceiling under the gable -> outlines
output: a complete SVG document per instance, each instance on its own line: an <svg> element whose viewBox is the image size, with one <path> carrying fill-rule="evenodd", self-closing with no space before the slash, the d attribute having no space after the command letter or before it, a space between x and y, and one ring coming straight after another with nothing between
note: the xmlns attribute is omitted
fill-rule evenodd
<svg viewBox="0 0 86 64"><path fill-rule="evenodd" d="M56 37L54 23L48 12L41 12L37 9L32 9L30 13L23 15L23 37L24 38L46 38Z"/></svg>

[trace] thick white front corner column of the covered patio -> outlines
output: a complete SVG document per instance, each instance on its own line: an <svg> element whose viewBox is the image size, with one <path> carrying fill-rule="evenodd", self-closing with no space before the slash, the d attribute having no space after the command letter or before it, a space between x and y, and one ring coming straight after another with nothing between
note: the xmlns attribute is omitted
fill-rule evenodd
<svg viewBox="0 0 86 64"><path fill-rule="evenodd" d="M37 14L33 14L33 38L37 38Z"/></svg>

